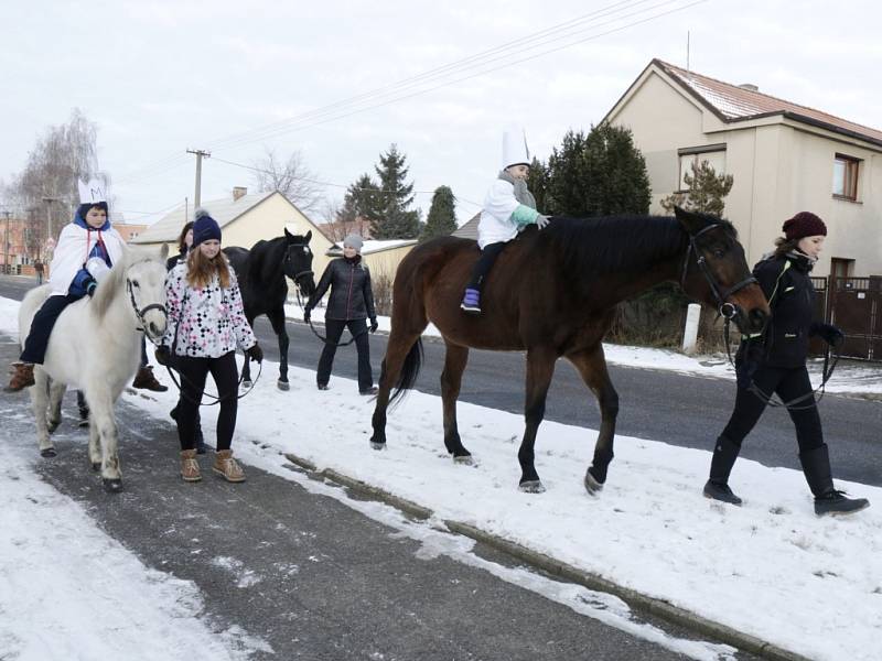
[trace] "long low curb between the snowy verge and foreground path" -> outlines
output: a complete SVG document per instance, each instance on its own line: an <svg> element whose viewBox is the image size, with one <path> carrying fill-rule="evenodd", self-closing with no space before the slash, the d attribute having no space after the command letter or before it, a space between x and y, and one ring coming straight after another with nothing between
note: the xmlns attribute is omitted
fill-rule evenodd
<svg viewBox="0 0 882 661"><path fill-rule="evenodd" d="M429 508L396 496L395 494L390 494L384 489L368 485L359 479L352 478L334 470L333 468L324 468L319 470L315 464L292 453L284 453L284 457L292 464L309 473L311 477L337 483L364 496L368 496L373 499L390 505L417 519L427 520L434 516L434 512ZM604 578L598 574L585 572L584 570L580 570L559 560L555 560L549 555L533 551L526 546L523 546L521 544L486 532L480 528L475 528L474 525L455 521L453 519L445 519L444 524L451 532L462 534L477 542L487 544L488 546L502 551L521 562L551 574L552 576L563 578L570 583L581 585L589 589L614 595L625 602L632 608L644 610L668 622L685 627L702 636L707 636L719 640L720 642L736 647L742 651L754 653L763 659L770 659L771 661L811 661L807 657L803 657L796 652L779 648L775 644L761 640L755 636L743 633L742 631L733 629L727 625L716 622L711 619L686 610L685 608L680 608L679 606L674 606L664 599L650 597L635 589L624 587L610 581L609 578Z"/></svg>

